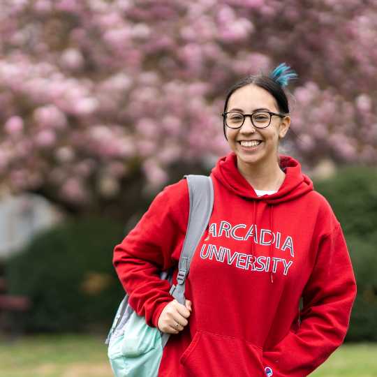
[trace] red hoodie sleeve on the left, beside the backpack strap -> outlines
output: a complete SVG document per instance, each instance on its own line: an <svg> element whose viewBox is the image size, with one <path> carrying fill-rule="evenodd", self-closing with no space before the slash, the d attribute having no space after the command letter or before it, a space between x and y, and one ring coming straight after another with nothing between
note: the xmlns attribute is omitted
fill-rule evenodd
<svg viewBox="0 0 377 377"><path fill-rule="evenodd" d="M188 222L186 179L166 186L121 244L114 247L113 265L128 302L145 316L147 325L157 327L163 308L173 299L170 283L159 273L177 265L174 251L182 249Z"/></svg>

